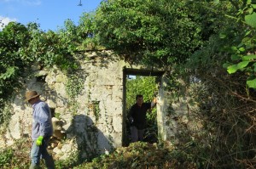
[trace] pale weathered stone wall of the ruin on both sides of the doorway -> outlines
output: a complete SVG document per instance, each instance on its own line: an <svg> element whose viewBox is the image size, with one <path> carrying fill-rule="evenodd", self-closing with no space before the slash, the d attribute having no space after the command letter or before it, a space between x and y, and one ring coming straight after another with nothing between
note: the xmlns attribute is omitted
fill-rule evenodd
<svg viewBox="0 0 256 169"><path fill-rule="evenodd" d="M55 125L58 123L55 141L51 143L55 158L66 159L78 149L81 157L90 157L122 146L126 118L123 114L124 67L130 66L131 69L131 65L104 51L83 54L78 60L79 70L73 74L63 73L55 67L44 69L39 65L34 65L28 74L24 74L20 79L23 87L10 103L12 118L0 138L1 147L12 145L20 138L30 138L32 107L24 102L27 90L41 94L41 99L49 104L55 116ZM138 71L143 69L137 68ZM145 70L143 73L147 72ZM152 69L149 70L152 73ZM172 100L166 97L168 80L166 76L160 77L159 138L170 141L177 132L175 117L186 116L188 107L186 99L172 104Z"/></svg>

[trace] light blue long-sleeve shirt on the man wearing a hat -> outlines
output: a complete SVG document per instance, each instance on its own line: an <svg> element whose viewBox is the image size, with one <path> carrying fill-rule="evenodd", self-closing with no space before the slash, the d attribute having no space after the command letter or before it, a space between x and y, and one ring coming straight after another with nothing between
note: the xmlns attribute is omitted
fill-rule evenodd
<svg viewBox="0 0 256 169"><path fill-rule="evenodd" d="M39 100L32 104L32 108L32 140L36 140L39 136L50 137L53 133L53 127L48 104Z"/></svg>

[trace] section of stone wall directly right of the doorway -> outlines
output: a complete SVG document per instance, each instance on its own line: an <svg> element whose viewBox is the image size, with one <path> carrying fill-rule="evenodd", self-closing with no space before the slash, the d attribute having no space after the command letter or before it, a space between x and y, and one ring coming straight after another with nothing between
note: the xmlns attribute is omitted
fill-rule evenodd
<svg viewBox="0 0 256 169"><path fill-rule="evenodd" d="M193 99L193 93L197 93L195 88L203 84L201 82L189 82L188 85L181 79L178 82L178 88L169 91L169 85L172 86L172 84L170 84L168 76L161 76L158 94L158 135L160 140L169 144L193 140L194 136L202 129L198 103Z"/></svg>

